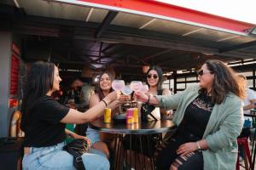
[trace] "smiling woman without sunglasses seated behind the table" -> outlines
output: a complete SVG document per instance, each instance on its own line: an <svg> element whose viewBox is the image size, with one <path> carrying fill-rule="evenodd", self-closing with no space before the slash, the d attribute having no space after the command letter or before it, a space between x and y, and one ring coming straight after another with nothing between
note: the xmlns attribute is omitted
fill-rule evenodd
<svg viewBox="0 0 256 170"><path fill-rule="evenodd" d="M111 88L113 78L113 75L108 71L102 73L102 75L99 77L99 82L96 87L96 94L93 94L90 97L90 108L98 105L102 101L102 99L104 99L106 96L108 96L108 94L113 92L113 89ZM127 99L129 99L128 96L119 95L118 100L115 100L110 105L108 105L108 108L112 110L112 116L115 113L114 109L124 103ZM100 133L98 131L88 127L86 131L86 136L90 139L90 144L92 145L92 148L96 150L101 150L106 154L106 156L109 157L108 146L100 139Z"/></svg>

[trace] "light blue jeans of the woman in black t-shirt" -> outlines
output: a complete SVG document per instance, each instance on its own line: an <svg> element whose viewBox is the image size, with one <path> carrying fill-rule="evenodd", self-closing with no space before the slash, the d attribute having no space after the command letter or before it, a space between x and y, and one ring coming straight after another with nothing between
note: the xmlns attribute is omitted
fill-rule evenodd
<svg viewBox="0 0 256 170"><path fill-rule="evenodd" d="M30 154L26 154L22 160L22 168L25 170L66 169L75 170L73 156L62 150L64 142L49 147L31 147ZM90 149L82 156L86 170L108 170L110 168L108 158L99 150Z"/></svg>

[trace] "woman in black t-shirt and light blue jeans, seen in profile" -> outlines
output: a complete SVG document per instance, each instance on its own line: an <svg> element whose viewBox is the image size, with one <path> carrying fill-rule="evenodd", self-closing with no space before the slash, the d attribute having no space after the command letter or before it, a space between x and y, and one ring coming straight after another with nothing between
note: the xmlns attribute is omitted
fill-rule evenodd
<svg viewBox="0 0 256 170"><path fill-rule="evenodd" d="M36 62L28 73L26 93L21 105L21 129L25 132L24 169L74 169L73 156L66 150L64 140L67 135L80 138L65 130L66 123L80 124L102 116L106 106L117 99L115 92L84 113L59 104L50 96L60 88L61 77L53 63ZM109 169L106 156L89 150L82 156L88 170Z"/></svg>

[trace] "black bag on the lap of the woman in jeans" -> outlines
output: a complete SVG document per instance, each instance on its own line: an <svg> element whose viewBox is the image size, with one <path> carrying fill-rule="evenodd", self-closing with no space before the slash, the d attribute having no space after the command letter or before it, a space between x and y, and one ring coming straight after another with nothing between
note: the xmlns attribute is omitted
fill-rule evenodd
<svg viewBox="0 0 256 170"><path fill-rule="evenodd" d="M82 155L89 150L89 144L86 139L74 139L63 148L73 155L73 166L78 170L85 170Z"/></svg>

